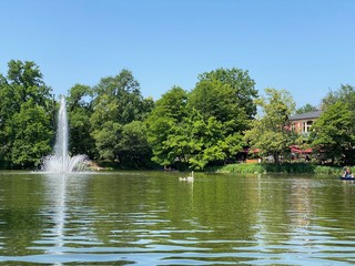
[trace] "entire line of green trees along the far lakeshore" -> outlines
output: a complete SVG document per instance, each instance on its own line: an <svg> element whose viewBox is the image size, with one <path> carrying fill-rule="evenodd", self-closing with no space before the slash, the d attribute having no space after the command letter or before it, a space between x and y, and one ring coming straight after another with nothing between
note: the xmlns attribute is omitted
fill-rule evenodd
<svg viewBox="0 0 355 266"><path fill-rule="evenodd" d="M204 72L191 91L172 86L154 101L122 70L94 86L74 84L68 91L70 152L120 167L203 170L236 162L245 147L278 163L297 144L312 147L316 162L354 163L354 86L341 85L322 99L323 113L310 135L294 134L287 122L315 106L295 110L286 90L268 88L264 95L248 71L233 68ZM8 63L0 74L2 167L36 168L52 152L58 96L34 62Z"/></svg>

